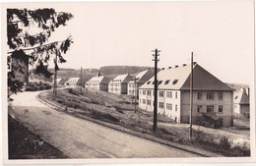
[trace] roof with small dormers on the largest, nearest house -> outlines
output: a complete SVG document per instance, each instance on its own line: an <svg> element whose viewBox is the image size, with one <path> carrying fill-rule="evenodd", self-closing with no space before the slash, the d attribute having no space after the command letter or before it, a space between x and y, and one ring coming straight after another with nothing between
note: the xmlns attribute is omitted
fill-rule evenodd
<svg viewBox="0 0 256 166"><path fill-rule="evenodd" d="M159 89L190 89L191 65L162 70L158 73ZM154 88L153 77L140 88ZM232 90L198 64L193 65L193 89L195 90Z"/></svg>

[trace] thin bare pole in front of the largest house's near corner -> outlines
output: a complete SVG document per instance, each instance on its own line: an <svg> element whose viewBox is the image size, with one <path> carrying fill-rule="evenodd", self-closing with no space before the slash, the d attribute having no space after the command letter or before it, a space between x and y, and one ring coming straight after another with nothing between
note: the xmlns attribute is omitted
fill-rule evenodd
<svg viewBox="0 0 256 166"><path fill-rule="evenodd" d="M193 52L191 54L191 74L190 74L190 118L189 118L189 140L192 139L192 112L193 112Z"/></svg>

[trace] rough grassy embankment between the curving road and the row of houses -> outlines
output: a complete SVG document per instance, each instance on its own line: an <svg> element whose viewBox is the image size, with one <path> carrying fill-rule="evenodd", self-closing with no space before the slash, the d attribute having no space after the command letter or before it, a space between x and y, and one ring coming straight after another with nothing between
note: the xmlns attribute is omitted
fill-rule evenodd
<svg viewBox="0 0 256 166"><path fill-rule="evenodd" d="M63 111L88 116L100 121L122 126L143 134L157 138L175 141L181 144L194 146L204 150L214 151L225 156L249 156L250 150L245 146L232 146L228 138L218 138L200 130L193 130L192 141L189 141L189 129L179 128L173 120L161 115L160 123L173 124L173 128L164 126L153 131L153 112L139 109L135 113L133 99L127 95L116 95L104 91L91 91L79 88L66 88L58 90L57 96L52 93L41 93L39 97L59 106L64 106Z"/></svg>

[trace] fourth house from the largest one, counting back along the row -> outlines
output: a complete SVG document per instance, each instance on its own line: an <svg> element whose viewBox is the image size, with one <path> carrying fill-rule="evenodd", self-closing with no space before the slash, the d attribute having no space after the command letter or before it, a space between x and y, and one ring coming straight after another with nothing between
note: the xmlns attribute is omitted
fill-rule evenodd
<svg viewBox="0 0 256 166"><path fill-rule="evenodd" d="M104 76L97 75L96 77L93 77L90 79L86 84L86 88L91 88L95 90L101 90L101 91L108 91L108 83L110 82L109 79L107 79Z"/></svg>

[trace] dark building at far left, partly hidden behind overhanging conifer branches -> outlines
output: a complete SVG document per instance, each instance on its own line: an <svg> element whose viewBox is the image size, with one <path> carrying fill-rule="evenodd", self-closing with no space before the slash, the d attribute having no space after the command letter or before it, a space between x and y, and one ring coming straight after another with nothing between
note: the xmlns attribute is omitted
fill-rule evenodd
<svg viewBox="0 0 256 166"><path fill-rule="evenodd" d="M11 58L12 80L29 83L29 56L23 50L18 50L12 53Z"/></svg>

